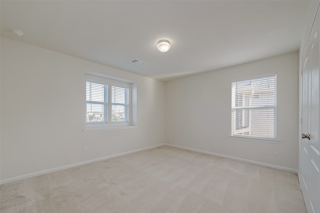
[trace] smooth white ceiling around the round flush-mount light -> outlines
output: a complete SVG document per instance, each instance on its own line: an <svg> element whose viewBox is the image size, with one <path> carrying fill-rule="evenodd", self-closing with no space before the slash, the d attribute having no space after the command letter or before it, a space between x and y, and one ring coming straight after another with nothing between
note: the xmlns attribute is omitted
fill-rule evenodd
<svg viewBox="0 0 320 213"><path fill-rule="evenodd" d="M0 1L1 36L167 81L298 50L309 1ZM16 28L22 37L11 34ZM157 41L171 49L160 52ZM129 61L147 62L138 66Z"/></svg>

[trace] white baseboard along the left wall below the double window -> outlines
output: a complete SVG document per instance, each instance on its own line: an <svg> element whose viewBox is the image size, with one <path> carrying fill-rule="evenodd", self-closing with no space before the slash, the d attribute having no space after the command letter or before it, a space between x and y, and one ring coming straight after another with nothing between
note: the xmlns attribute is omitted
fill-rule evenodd
<svg viewBox="0 0 320 213"><path fill-rule="evenodd" d="M22 180L22 179L39 176L39 175L48 174L48 173L51 173L51 172L56 172L56 171L59 171L59 170L69 169L69 168L81 166L81 165L84 165L84 164L90 164L90 163L97 162L97 161L103 161L103 160L106 160L106 159L115 158L115 157L119 157L119 156L122 156L122 155L127 155L127 154L131 154L131 153L135 153L135 152L140 152L140 151L143 151L143 150L148 150L148 149L160 147L160 146L163 146L163 145L166 145L166 144L158 144L158 145L149 146L149 147L145 147L145 148L141 148L141 149L136 149L136 150L132 150L132 151L128 151L128 152L122 152L122 153L118 153L118 154L114 154L114 155L109 155L109 156L105 156L105 157L101 157L101 158L96 158L96 159L92 159L92 160L88 160L88 161L82 161L82 162L78 162L78 163L75 163L75 164L69 164L69 165L65 165L65 166L62 166L62 167L56 167L56 168L52 168L52 169L48 169L48 170L42 170L42 171L39 171L39 172L29 173L29 174L26 174L26 175L16 176L16 177L13 177L13 178L0 180L0 185L6 184L6 183L10 183L10 182L13 182L13 181L19 181L19 180Z"/></svg>

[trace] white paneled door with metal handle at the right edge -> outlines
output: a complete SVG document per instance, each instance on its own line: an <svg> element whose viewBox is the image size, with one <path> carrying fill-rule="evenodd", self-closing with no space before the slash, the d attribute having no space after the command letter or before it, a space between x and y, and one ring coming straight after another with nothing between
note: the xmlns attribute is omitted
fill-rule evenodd
<svg viewBox="0 0 320 213"><path fill-rule="evenodd" d="M308 213L320 213L319 16L315 17L302 58L300 189Z"/></svg>

